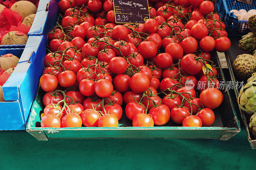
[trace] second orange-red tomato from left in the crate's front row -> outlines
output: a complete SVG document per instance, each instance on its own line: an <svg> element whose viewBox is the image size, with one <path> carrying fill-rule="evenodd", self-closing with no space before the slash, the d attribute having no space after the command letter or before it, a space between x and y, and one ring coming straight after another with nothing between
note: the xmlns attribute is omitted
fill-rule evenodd
<svg viewBox="0 0 256 170"><path fill-rule="evenodd" d="M70 113L61 119L61 126L64 127L82 127L82 119L78 114Z"/></svg>

